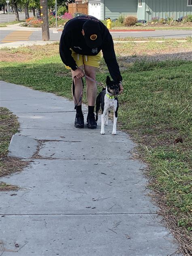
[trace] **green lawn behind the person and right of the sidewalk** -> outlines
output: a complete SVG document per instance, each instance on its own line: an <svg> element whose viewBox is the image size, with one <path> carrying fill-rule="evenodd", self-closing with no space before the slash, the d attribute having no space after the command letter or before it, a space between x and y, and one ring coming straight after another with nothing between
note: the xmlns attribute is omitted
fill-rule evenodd
<svg viewBox="0 0 192 256"><path fill-rule="evenodd" d="M122 49L119 47L117 52ZM71 98L70 72L60 60L58 45L5 49L4 52L9 52L9 58L0 63L2 80ZM22 61L23 52L25 61ZM18 61L11 58L11 54L17 56ZM119 96L119 129L128 132L137 142L133 157L148 164L147 186L154 191L152 198L179 241L181 252L190 255L192 62L143 60L126 64L124 57L118 61L124 81L124 93ZM107 74L102 60L96 79L105 83ZM98 92L100 90L99 87Z"/></svg>

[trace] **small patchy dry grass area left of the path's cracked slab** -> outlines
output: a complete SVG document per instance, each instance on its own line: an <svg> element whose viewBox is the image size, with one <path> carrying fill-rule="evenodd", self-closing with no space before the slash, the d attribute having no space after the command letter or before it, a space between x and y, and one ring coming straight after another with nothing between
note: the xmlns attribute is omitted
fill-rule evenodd
<svg viewBox="0 0 192 256"><path fill-rule="evenodd" d="M8 157L8 147L11 137L18 131L19 122L7 108L0 107L0 177L21 171L27 162ZM0 191L18 190L17 186L0 182Z"/></svg>

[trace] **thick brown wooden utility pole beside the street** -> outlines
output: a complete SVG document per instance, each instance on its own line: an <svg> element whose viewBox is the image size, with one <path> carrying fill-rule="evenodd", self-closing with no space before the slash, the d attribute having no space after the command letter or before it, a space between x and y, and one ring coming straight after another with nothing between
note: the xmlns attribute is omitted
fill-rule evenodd
<svg viewBox="0 0 192 256"><path fill-rule="evenodd" d="M49 17L47 0L40 0L41 8L41 23L42 23L42 39L43 41L49 41Z"/></svg>

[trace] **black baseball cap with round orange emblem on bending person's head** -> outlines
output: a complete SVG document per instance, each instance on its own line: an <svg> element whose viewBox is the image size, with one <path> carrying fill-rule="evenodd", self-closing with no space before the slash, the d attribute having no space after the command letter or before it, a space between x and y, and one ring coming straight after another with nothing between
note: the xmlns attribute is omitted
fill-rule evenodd
<svg viewBox="0 0 192 256"><path fill-rule="evenodd" d="M100 26L97 21L87 20L83 24L86 45L90 48L100 47L102 44Z"/></svg>

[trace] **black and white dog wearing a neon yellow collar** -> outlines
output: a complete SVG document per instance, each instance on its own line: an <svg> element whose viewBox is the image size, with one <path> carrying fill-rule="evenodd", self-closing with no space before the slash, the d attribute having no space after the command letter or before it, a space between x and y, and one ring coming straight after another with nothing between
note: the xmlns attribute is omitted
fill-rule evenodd
<svg viewBox="0 0 192 256"><path fill-rule="evenodd" d="M101 105L101 134L105 134L105 125L108 125L108 115L113 110L113 135L116 135L117 111L119 102L117 95L119 94L119 84L111 81L110 77L106 79L107 87L99 93L96 99L96 121L98 120L98 112Z"/></svg>

